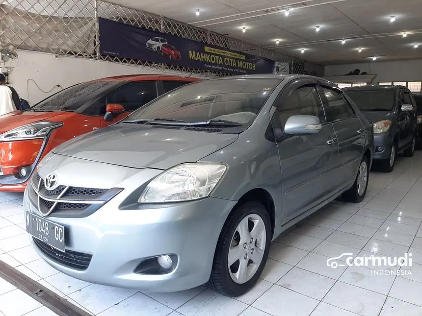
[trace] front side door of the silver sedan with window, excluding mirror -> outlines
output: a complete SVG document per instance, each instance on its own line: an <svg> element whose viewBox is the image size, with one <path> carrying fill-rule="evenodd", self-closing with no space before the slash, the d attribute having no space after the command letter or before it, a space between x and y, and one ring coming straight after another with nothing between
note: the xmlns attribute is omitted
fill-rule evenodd
<svg viewBox="0 0 422 316"><path fill-rule="evenodd" d="M275 102L273 128L282 128L293 115L317 116L322 128L316 134L285 135L277 143L282 170L282 223L321 202L335 189L332 171L337 166L338 146L333 126L326 123L313 79L295 80Z"/></svg>

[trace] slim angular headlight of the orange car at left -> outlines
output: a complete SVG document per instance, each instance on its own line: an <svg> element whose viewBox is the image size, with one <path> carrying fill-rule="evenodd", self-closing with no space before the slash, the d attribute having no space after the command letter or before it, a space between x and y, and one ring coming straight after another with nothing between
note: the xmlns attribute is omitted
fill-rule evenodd
<svg viewBox="0 0 422 316"><path fill-rule="evenodd" d="M22 141L45 137L52 129L63 126L62 122L40 121L30 123L0 135L0 142Z"/></svg>

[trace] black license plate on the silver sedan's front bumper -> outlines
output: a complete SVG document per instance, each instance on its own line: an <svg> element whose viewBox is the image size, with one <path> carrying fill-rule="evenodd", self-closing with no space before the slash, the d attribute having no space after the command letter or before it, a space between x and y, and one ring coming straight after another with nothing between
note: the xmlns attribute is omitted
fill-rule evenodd
<svg viewBox="0 0 422 316"><path fill-rule="evenodd" d="M65 251L64 226L26 212L26 231L53 248Z"/></svg>

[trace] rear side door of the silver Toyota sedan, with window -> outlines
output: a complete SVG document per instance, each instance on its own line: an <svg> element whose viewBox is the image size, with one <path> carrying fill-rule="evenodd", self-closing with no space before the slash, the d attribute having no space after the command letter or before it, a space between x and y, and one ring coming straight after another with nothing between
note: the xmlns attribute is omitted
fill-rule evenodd
<svg viewBox="0 0 422 316"><path fill-rule="evenodd" d="M328 121L336 133L339 146L339 166L336 171L339 188L355 179L365 146L365 128L343 91L335 86L321 85L321 98L327 109Z"/></svg>

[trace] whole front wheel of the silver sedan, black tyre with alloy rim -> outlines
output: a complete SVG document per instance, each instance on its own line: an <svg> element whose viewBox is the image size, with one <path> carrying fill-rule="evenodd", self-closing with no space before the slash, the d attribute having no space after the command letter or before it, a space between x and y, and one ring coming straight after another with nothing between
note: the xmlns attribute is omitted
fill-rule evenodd
<svg viewBox="0 0 422 316"><path fill-rule="evenodd" d="M249 219L258 220L258 222L254 224ZM247 227L247 232L241 230L242 224L245 223L248 223L247 226L243 225ZM255 236L258 238L254 238L251 243L250 238L253 238L254 234L250 233L254 228L259 234ZM259 202L250 201L235 207L221 230L207 285L214 291L227 296L239 296L248 292L258 281L264 269L270 242L271 223L264 206ZM230 267L229 258L233 261ZM261 262L258 264L260 258ZM251 264L254 260L256 260L256 265ZM241 267L246 268L241 269ZM241 271L246 272L242 274Z"/></svg>

